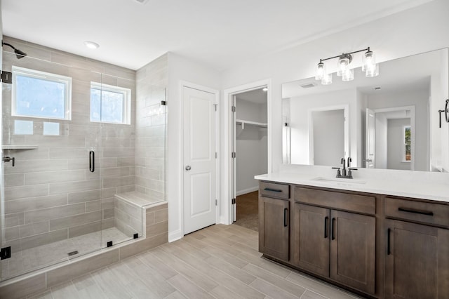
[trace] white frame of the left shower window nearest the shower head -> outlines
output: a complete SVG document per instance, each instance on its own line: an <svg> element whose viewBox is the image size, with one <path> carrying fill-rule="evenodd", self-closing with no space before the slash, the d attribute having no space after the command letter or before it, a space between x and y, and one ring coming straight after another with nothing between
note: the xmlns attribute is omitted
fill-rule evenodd
<svg viewBox="0 0 449 299"><path fill-rule="evenodd" d="M25 67L16 67L13 65L13 86L11 88L11 116L13 117L28 117L32 119L59 119L59 120L71 120L72 119L72 78L67 76L62 76L59 74L52 74L48 72L36 71L35 69L26 69ZM22 115L18 114L16 110L17 99L16 96L16 88L17 84L16 77L17 75L35 78L35 79L43 79L46 81L53 81L58 83L65 84L65 95L64 95L64 105L65 105L65 117L40 117L37 115Z"/></svg>

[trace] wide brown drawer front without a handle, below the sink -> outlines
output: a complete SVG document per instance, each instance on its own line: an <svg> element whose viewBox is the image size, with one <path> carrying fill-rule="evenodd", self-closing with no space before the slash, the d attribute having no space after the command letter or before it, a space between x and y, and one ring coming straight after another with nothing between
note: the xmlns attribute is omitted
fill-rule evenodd
<svg viewBox="0 0 449 299"><path fill-rule="evenodd" d="M295 187L293 198L296 202L302 204L312 204L370 215L375 215L376 213L375 197Z"/></svg>

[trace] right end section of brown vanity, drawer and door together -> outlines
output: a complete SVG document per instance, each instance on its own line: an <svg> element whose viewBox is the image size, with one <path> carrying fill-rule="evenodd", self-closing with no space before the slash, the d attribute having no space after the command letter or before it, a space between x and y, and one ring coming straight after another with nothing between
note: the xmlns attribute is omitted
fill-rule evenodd
<svg viewBox="0 0 449 299"><path fill-rule="evenodd" d="M449 206L387 197L386 298L449 298ZM400 220L398 220L400 219Z"/></svg>

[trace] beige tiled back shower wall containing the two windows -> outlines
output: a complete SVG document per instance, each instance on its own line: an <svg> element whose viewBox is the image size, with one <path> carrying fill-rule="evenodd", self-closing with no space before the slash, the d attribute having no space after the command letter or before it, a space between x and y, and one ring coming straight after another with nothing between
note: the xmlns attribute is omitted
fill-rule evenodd
<svg viewBox="0 0 449 299"><path fill-rule="evenodd" d="M15 167L5 164L3 245L14 253L114 226L114 194L135 188L135 71L7 36L4 41L28 54L21 60L4 55L4 70L17 65L72 77L72 120L11 117L11 85L3 84L3 144L39 147L4 150ZM90 121L91 81L131 89L130 125ZM15 135L15 119L33 121L33 134ZM59 123L60 135L43 135L44 121Z"/></svg>

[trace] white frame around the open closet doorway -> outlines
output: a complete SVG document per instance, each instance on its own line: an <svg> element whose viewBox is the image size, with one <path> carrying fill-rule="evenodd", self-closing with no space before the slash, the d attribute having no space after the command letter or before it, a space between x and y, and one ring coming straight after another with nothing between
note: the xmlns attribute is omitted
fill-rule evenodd
<svg viewBox="0 0 449 299"><path fill-rule="evenodd" d="M268 173L272 173L272 79L264 79L260 81L255 81L249 84L243 84L241 86L236 86L232 88L227 88L223 91L223 109L222 109L222 128L223 128L223 138L222 138L222 185L221 189L221 204L220 209L221 219L220 223L230 225L233 222L232 219L232 131L233 131L233 121L232 121L232 97L238 93L243 93L245 91L253 91L255 89L267 86L267 142L268 142Z"/></svg>

